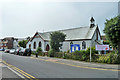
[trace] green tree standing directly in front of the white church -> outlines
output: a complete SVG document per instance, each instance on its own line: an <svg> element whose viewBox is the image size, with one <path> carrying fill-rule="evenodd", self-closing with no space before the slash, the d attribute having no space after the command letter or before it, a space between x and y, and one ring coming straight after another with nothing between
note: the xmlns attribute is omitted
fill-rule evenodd
<svg viewBox="0 0 120 80"><path fill-rule="evenodd" d="M52 32L50 34L50 46L51 46L51 49L59 52L59 47L62 46L60 44L60 42L65 41L65 37L66 37L66 35L64 33L62 33L62 32L59 32L59 31Z"/></svg>

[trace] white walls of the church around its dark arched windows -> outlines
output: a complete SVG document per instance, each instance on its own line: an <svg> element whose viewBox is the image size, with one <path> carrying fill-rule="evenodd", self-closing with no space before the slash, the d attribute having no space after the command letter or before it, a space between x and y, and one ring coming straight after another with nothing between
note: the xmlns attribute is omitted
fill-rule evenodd
<svg viewBox="0 0 120 80"><path fill-rule="evenodd" d="M88 47L90 47L90 44L91 44L91 46L95 46L96 44L98 44L97 42L95 42L95 40L96 40L96 32L94 33L92 40L82 40L82 41L72 41L72 42L73 42L73 44L80 44L80 50L82 50L82 42L83 42L83 41L86 42L86 49L87 49ZM101 40L99 34L98 34L98 40ZM36 42L36 49L37 49L37 47L39 46L39 41L41 41L41 48L42 48L42 50L43 50L44 52L46 51L45 49L46 49L46 45L47 45L47 44L48 44L49 47L50 47L50 42L44 41L44 40L42 40L40 37L39 37L39 38L34 38L34 39L32 40L32 42L28 42L27 45L26 45L26 47L29 48L29 44L31 44L31 49L35 51L36 49L33 49L34 41ZM70 43L71 43L71 41L64 41L64 42L63 42L62 49L60 49L60 50L61 50L61 51L70 50ZM85 49L85 50L86 50L86 49Z"/></svg>

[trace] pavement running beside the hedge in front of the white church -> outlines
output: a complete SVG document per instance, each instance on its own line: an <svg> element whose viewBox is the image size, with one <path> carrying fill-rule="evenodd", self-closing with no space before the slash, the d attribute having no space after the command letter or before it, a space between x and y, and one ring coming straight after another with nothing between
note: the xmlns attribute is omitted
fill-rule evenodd
<svg viewBox="0 0 120 80"><path fill-rule="evenodd" d="M32 55L32 57L36 58L35 55ZM104 63L94 63L94 62L85 62L85 61L77 61L77 60L70 60L70 59L60 59L60 58L51 58L47 56L39 56L38 59L48 60L51 62L60 62L63 64L71 64L81 67L89 67L89 68L98 68L98 69L113 69L113 70L120 70L120 65L118 64L104 64Z"/></svg>

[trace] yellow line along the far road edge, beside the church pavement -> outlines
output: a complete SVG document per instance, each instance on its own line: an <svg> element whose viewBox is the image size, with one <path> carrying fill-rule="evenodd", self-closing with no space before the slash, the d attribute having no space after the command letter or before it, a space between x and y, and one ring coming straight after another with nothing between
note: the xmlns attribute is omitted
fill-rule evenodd
<svg viewBox="0 0 120 80"><path fill-rule="evenodd" d="M64 64L64 65L73 66L73 67L79 67L79 68L94 69L94 70L105 70L105 71L120 71L120 70L117 70L117 69L103 69L103 68L92 68L92 67L86 67L86 66L78 66L78 65L72 65L72 64L62 63L62 62L39 59L39 58L35 58L35 57L31 57L31 58L42 60L42 61L47 61L47 62L52 62L52 63Z"/></svg>

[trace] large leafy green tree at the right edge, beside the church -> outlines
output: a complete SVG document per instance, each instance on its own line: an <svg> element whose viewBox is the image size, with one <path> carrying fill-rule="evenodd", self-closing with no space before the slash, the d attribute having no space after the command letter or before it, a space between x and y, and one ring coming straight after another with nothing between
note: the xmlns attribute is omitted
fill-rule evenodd
<svg viewBox="0 0 120 80"><path fill-rule="evenodd" d="M120 54L120 16L106 20L104 33L110 44L114 48L118 48L118 53Z"/></svg>

